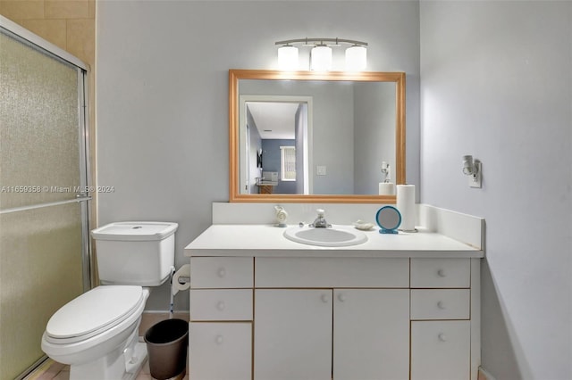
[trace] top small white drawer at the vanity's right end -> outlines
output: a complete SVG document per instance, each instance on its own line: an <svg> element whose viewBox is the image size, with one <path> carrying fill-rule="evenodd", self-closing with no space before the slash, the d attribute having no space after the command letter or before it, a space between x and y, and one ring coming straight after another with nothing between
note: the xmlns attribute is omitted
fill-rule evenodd
<svg viewBox="0 0 572 380"><path fill-rule="evenodd" d="M411 259L411 287L470 287L469 259Z"/></svg>

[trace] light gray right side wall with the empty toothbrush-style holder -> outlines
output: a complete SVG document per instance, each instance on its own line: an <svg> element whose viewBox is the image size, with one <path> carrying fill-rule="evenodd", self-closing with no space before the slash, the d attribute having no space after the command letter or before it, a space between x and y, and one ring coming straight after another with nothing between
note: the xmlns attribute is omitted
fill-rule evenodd
<svg viewBox="0 0 572 380"><path fill-rule="evenodd" d="M422 1L420 19L421 199L486 220L484 368L570 379L572 3Z"/></svg>

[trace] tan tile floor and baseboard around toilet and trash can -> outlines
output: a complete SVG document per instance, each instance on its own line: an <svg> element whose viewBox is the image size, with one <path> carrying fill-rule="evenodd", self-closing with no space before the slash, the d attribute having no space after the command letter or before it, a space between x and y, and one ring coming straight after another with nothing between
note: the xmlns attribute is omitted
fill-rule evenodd
<svg viewBox="0 0 572 380"><path fill-rule="evenodd" d="M143 335L150 326L157 322L169 318L168 313L143 313L141 323L139 324L139 341L143 342ZM173 318L181 318L189 320L189 313L175 313ZM179 376L172 377L170 380L189 380L189 371L183 372ZM38 369L25 378L25 380L69 380L70 367L61 363L57 363L52 359L47 359ZM139 375L135 380L154 380L149 372L149 363L145 363Z"/></svg>

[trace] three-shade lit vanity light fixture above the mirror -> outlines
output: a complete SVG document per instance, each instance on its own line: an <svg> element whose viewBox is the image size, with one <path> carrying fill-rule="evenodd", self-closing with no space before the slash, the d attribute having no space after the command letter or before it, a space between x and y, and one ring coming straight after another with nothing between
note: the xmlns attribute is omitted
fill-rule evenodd
<svg viewBox="0 0 572 380"><path fill-rule="evenodd" d="M298 38L285 41L278 41L274 45L281 45L278 48L278 67L280 70L298 70L298 48L294 46L310 46L310 70L329 71L332 70L332 47L349 45L346 49L347 71L366 70L367 64L367 43L344 38Z"/></svg>

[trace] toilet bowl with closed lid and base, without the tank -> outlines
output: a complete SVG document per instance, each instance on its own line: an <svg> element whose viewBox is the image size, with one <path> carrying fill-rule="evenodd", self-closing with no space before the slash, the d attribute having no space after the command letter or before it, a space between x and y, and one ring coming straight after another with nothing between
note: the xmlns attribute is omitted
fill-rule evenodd
<svg viewBox="0 0 572 380"><path fill-rule="evenodd" d="M113 379L133 376L147 358L138 327L149 291L135 285L101 285L58 310L42 336L42 350L71 365L70 377ZM127 367L126 367L127 366Z"/></svg>

